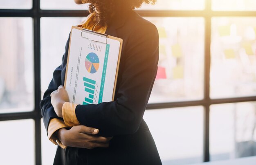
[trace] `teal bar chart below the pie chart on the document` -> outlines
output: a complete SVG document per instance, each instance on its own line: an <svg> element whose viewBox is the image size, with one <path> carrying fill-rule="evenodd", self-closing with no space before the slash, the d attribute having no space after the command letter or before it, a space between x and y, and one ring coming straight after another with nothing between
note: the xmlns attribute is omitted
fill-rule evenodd
<svg viewBox="0 0 256 165"><path fill-rule="evenodd" d="M89 93L89 97L85 97L85 101L83 101L83 105L92 104L96 81L92 79L88 79L86 77L83 77L83 81L85 86L85 92Z"/></svg>

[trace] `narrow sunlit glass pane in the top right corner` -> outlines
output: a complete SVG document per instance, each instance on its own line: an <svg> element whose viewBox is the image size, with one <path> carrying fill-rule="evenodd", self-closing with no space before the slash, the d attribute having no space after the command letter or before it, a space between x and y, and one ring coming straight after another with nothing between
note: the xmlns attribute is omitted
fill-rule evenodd
<svg viewBox="0 0 256 165"><path fill-rule="evenodd" d="M256 0L212 0L213 10L255 11Z"/></svg>

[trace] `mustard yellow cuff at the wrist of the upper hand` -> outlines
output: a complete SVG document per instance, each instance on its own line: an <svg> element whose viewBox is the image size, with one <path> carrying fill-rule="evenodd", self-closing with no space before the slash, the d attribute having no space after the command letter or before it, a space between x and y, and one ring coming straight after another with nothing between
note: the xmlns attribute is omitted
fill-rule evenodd
<svg viewBox="0 0 256 165"><path fill-rule="evenodd" d="M65 102L62 106L62 116L68 127L81 125L76 118L76 104Z"/></svg>

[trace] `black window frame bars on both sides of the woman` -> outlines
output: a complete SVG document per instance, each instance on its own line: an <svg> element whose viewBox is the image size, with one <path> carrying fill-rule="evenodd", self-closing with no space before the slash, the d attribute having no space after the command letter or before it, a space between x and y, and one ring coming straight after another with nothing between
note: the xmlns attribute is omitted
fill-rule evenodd
<svg viewBox="0 0 256 165"><path fill-rule="evenodd" d="M41 100L40 75L40 18L42 17L86 17L84 10L42 10L40 0L32 0L32 9L0 9L0 17L29 17L33 19L34 35L34 110L31 112L0 114L0 121L34 119L35 121L35 164L41 165L41 114L39 102ZM203 133L203 162L210 161L209 153L209 117L210 106L222 103L238 103L256 101L255 96L230 97L223 99L210 98L210 64L211 64L211 18L213 17L256 17L255 11L212 11L211 0L205 0L205 9L196 11L184 10L136 10L143 17L198 17L204 18L204 98L195 101L179 101L169 103L150 103L146 110L163 108L203 106L204 133Z"/></svg>

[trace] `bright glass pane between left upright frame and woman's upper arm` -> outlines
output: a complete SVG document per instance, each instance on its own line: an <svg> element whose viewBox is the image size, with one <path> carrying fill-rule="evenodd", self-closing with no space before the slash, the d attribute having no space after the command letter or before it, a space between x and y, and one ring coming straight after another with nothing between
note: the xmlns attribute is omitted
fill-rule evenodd
<svg viewBox="0 0 256 165"><path fill-rule="evenodd" d="M62 56L65 53L65 45L71 27L78 25L85 19L80 17L41 18L42 95L52 80L54 70L62 63Z"/></svg>

